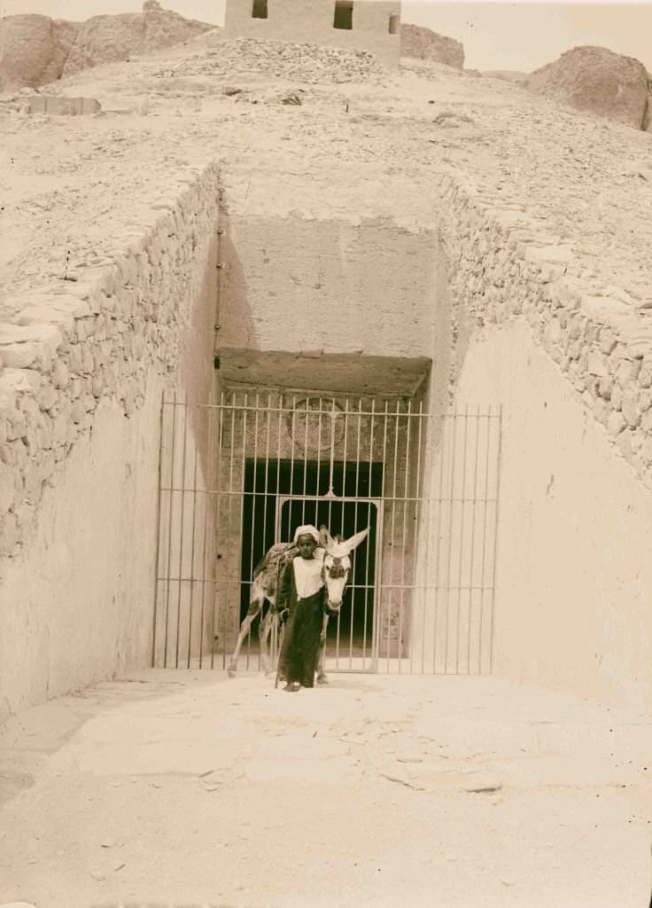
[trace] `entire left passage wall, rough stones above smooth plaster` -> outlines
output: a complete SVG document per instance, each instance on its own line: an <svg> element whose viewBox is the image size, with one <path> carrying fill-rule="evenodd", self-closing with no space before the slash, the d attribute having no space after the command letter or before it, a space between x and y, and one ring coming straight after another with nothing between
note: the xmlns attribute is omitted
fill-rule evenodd
<svg viewBox="0 0 652 908"><path fill-rule="evenodd" d="M170 187L0 325L0 717L150 658L161 393L213 376L219 174Z"/></svg>

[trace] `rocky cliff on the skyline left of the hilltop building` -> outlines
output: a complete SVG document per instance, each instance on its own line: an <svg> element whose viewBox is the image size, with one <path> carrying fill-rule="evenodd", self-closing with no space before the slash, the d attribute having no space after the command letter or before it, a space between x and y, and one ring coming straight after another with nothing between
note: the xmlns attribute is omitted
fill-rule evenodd
<svg viewBox="0 0 652 908"><path fill-rule="evenodd" d="M38 88L89 66L180 44L214 25L184 19L145 0L141 13L66 22L46 15L0 20L0 92Z"/></svg>

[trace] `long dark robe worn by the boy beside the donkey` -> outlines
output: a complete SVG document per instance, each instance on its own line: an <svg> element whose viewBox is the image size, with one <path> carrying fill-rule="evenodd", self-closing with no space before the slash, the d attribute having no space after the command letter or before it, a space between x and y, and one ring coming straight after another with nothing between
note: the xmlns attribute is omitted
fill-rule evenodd
<svg viewBox="0 0 652 908"><path fill-rule="evenodd" d="M282 611L287 608L288 615L278 656L279 679L303 687L314 686L326 602L326 587L300 599L297 596L294 560L283 568L278 583L277 609Z"/></svg>

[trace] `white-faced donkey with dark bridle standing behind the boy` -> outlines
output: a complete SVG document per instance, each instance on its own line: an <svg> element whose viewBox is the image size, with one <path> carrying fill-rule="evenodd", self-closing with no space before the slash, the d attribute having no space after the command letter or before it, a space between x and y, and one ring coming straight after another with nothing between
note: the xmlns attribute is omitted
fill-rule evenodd
<svg viewBox="0 0 652 908"><path fill-rule="evenodd" d="M360 545L368 532L368 529L363 529L359 533L355 533L351 538L342 540L339 537L333 538L326 527L321 527L319 530L319 548L324 552L322 577L326 584L328 612L324 615L324 624L320 636L321 646L317 660L317 684L328 683L324 668L328 617L339 612L342 607L345 588L351 574L351 558L349 556L354 548ZM277 609L278 580L281 570L293 558L297 557L297 552L294 542L279 542L268 550L266 555L258 562L256 568L254 568L247 616L240 625L236 648L229 662L230 677L236 676L240 648L248 635L254 618L262 612L266 599L269 607L265 615L261 617L258 630L260 661L263 671L268 673L273 670L268 653L268 638L272 625L274 624L278 627L280 617Z"/></svg>

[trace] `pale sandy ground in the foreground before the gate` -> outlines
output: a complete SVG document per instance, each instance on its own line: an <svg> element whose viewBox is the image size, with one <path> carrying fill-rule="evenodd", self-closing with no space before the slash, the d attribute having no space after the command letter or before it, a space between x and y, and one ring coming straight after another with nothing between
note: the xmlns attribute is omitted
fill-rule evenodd
<svg viewBox="0 0 652 908"><path fill-rule="evenodd" d="M491 679L150 670L0 735L5 901L645 908L649 718Z"/></svg>

